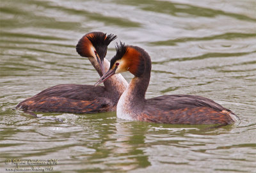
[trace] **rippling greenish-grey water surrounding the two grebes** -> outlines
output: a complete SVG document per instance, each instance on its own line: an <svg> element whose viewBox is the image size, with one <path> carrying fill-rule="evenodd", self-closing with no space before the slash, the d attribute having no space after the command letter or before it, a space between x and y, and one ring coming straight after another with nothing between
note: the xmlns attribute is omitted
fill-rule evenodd
<svg viewBox="0 0 256 173"><path fill-rule="evenodd" d="M58 163L48 172L256 172L255 8L254 0L1 0L0 172L17 169L8 159L27 161L16 172L31 169L28 160L51 159ZM39 113L36 119L14 110L47 87L99 79L75 49L90 31L115 33L117 41L147 50L147 98L205 96L233 110L241 123L129 122L115 112ZM114 54L113 42L108 59ZM34 165L38 170L27 172L47 167Z"/></svg>

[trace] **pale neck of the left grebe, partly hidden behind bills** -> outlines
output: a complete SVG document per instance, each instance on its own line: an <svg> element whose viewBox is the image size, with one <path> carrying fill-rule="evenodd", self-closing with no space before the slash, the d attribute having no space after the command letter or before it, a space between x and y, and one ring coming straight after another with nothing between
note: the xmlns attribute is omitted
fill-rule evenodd
<svg viewBox="0 0 256 173"><path fill-rule="evenodd" d="M100 77L102 77L102 71L100 69L99 63L95 61L95 58L89 58L90 62L92 63L95 70L99 73ZM104 71L108 71L110 66L110 63L108 59L104 58ZM106 90L109 93L118 94L118 98L116 98L116 102L118 102L118 99L124 93L125 89L128 87L128 82L124 79L124 77L121 74L113 75L112 77L109 77L108 80L104 81L104 86Z"/></svg>

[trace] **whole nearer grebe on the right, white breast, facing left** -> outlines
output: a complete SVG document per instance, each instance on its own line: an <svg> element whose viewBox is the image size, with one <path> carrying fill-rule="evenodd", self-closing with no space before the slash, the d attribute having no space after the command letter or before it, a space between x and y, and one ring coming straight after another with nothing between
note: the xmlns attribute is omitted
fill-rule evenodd
<svg viewBox="0 0 256 173"><path fill-rule="evenodd" d="M218 103L202 96L164 95L146 100L151 60L140 47L116 46L110 68L95 84L99 85L116 73L130 71L134 78L120 97L116 116L121 119L171 124L232 124L239 118Z"/></svg>

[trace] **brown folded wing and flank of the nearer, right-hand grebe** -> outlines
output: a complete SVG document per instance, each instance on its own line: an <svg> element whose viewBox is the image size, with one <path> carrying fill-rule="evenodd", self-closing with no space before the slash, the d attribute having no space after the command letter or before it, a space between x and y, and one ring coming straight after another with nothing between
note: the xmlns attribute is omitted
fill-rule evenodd
<svg viewBox="0 0 256 173"><path fill-rule="evenodd" d="M140 121L172 124L230 124L230 110L211 99L191 95L166 95L147 100Z"/></svg>

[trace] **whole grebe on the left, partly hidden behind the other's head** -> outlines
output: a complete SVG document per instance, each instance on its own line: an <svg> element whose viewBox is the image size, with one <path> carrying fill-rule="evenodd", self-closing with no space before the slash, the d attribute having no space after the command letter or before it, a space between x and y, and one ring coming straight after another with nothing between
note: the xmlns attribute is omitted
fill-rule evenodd
<svg viewBox="0 0 256 173"><path fill-rule="evenodd" d="M101 32L85 34L77 43L80 56L88 57L95 70L102 76L102 70L109 68L105 59L108 45L116 36ZM94 113L116 110L116 104L128 83L118 74L104 82L104 87L92 85L61 84L53 86L20 102L16 109L26 112L74 112Z"/></svg>

